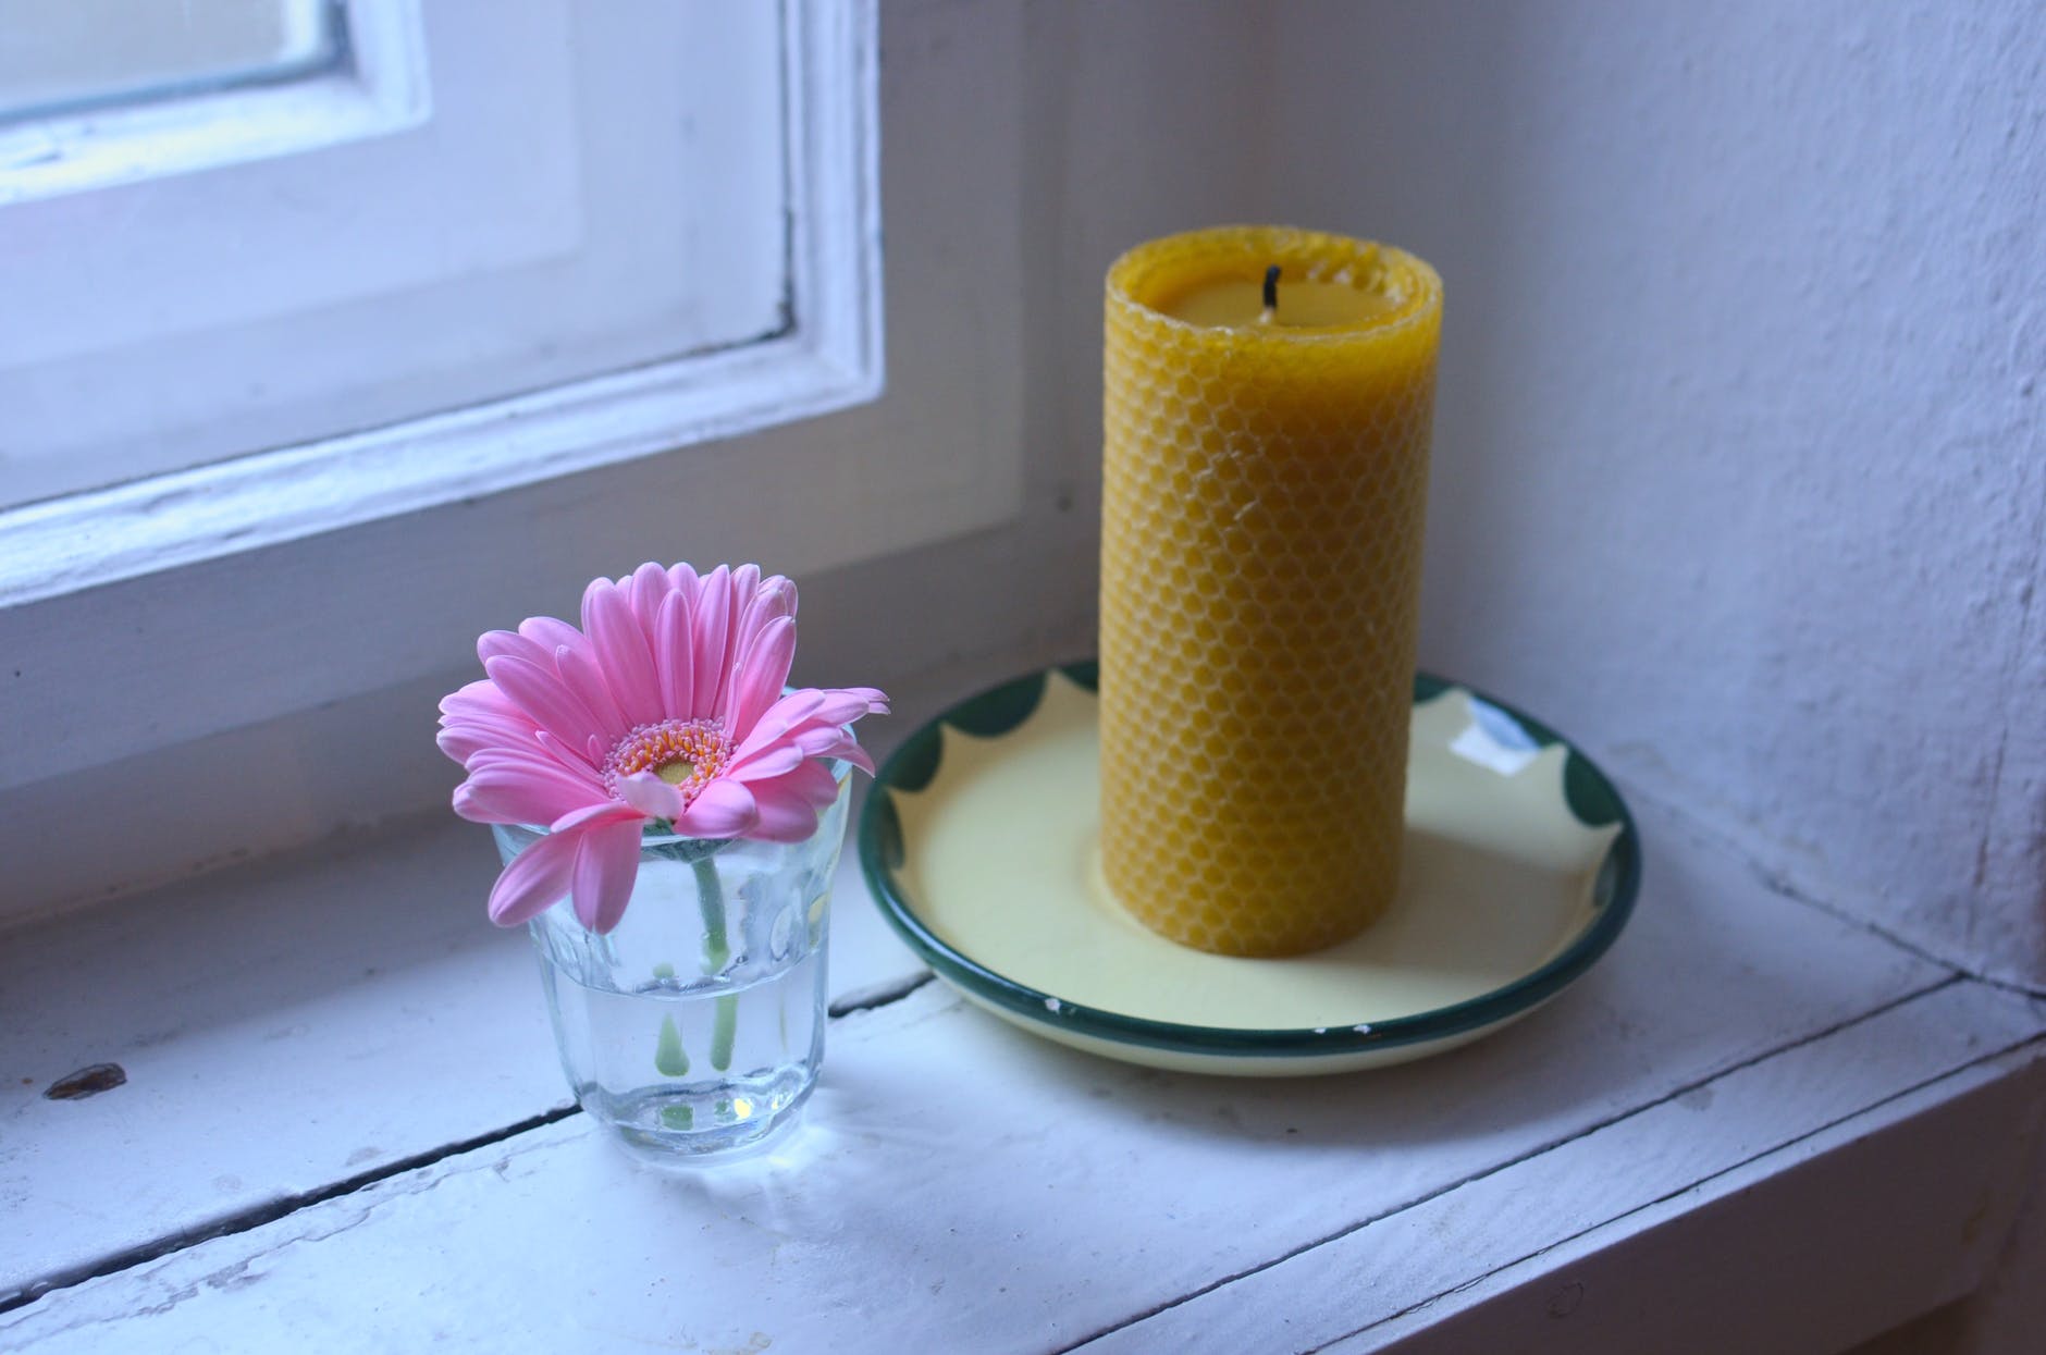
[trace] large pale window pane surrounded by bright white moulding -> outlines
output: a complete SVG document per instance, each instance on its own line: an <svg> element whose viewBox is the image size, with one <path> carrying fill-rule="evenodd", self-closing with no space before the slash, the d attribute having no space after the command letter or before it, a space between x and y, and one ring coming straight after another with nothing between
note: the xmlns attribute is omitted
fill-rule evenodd
<svg viewBox="0 0 2046 1355"><path fill-rule="evenodd" d="M35 174L45 129L90 143L145 125L104 184L8 203L0 129L0 514L788 330L780 6L387 2L348 18L346 80L14 127ZM430 121L133 172L180 135L233 147L278 111L354 127L379 80L426 104L426 51Z"/></svg>

